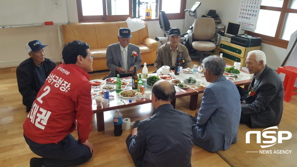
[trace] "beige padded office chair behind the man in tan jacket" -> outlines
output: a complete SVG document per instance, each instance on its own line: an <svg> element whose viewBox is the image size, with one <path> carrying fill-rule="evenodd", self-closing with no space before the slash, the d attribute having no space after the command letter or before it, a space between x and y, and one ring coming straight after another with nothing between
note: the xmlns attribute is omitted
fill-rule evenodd
<svg viewBox="0 0 297 167"><path fill-rule="evenodd" d="M214 42L211 42L211 39ZM221 35L216 34L214 18L199 17L195 20L193 32L189 33L189 44L193 49L200 52L215 50L221 43Z"/></svg>

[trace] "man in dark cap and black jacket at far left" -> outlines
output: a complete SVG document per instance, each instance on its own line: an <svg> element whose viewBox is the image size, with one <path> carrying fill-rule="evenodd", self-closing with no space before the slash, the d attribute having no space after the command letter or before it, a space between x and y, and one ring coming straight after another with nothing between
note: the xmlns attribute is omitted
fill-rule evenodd
<svg viewBox="0 0 297 167"><path fill-rule="evenodd" d="M30 112L33 101L46 78L56 67L54 61L45 58L44 47L39 40L32 40L26 45L30 58L21 62L16 68L18 91L23 96L23 104Z"/></svg>

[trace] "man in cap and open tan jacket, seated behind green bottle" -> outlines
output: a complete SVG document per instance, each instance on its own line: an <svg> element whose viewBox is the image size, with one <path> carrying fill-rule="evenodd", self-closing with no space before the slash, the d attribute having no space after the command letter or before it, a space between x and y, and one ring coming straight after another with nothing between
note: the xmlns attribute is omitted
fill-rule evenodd
<svg viewBox="0 0 297 167"><path fill-rule="evenodd" d="M162 66L169 66L174 70L176 60L180 57L183 59L183 68L191 67L192 59L189 56L189 52L184 45L179 43L180 30L178 28L169 29L168 40L168 43L159 48L155 60L155 68L158 70Z"/></svg>

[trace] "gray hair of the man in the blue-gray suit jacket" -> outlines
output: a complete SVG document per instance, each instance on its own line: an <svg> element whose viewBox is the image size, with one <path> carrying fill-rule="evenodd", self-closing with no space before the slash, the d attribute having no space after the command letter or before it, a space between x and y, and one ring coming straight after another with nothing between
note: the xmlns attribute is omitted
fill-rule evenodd
<svg viewBox="0 0 297 167"><path fill-rule="evenodd" d="M209 70L213 75L223 75L226 67L224 59L217 55L211 55L203 59L203 69Z"/></svg>

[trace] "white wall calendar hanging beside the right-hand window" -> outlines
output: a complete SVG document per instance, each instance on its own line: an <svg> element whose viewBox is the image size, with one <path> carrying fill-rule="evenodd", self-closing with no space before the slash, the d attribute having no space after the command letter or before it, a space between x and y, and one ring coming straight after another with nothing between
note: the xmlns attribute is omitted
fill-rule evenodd
<svg viewBox="0 0 297 167"><path fill-rule="evenodd" d="M241 0L237 22L242 23L242 29L254 31L260 11L261 0Z"/></svg>

